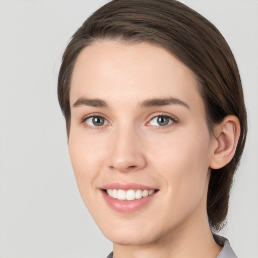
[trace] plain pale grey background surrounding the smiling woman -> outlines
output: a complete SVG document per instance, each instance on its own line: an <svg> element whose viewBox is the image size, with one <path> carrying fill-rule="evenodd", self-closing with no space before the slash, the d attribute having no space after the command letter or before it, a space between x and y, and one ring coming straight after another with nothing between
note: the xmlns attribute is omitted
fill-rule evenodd
<svg viewBox="0 0 258 258"><path fill-rule="evenodd" d="M105 239L79 195L56 96L69 38L106 1L0 0L0 257L106 257ZM229 238L258 257L258 1L182 1L231 46L242 76L249 133L230 199Z"/></svg>

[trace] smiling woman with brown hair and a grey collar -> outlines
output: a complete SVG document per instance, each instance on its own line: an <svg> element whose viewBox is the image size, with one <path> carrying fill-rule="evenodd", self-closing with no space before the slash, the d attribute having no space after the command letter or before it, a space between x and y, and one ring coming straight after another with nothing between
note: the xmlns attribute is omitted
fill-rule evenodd
<svg viewBox="0 0 258 258"><path fill-rule="evenodd" d="M236 257L223 227L246 139L233 54L173 0L114 0L63 54L58 99L108 257Z"/></svg>

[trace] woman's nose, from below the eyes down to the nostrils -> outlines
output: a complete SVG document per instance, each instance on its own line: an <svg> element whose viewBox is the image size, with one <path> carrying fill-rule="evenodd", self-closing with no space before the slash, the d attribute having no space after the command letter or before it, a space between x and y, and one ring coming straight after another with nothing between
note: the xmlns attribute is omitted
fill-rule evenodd
<svg viewBox="0 0 258 258"><path fill-rule="evenodd" d="M110 138L108 166L119 172L143 169L147 162L143 140L135 128L120 127Z"/></svg>

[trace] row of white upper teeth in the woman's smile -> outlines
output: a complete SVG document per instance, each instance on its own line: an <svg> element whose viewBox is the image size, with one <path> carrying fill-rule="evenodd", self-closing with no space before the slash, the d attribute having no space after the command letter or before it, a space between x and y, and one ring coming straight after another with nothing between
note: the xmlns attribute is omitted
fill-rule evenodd
<svg viewBox="0 0 258 258"><path fill-rule="evenodd" d="M154 193L155 190L121 190L121 189L106 189L107 194L118 200L127 200L127 201L133 201L135 199L141 199L143 197L150 196Z"/></svg>

